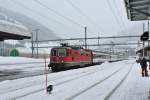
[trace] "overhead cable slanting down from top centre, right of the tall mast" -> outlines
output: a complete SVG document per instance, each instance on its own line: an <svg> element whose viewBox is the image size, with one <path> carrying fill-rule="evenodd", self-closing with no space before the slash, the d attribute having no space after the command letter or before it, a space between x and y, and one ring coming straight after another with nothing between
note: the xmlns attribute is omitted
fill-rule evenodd
<svg viewBox="0 0 150 100"><path fill-rule="evenodd" d="M71 0L66 0L73 8L75 8L82 16L84 16L89 22L91 22L91 24L93 24L94 26L99 26L97 23L95 23L87 14L85 14L80 8L78 8L75 4L73 4L73 2ZM99 27L97 27L99 29ZM104 32L102 30L102 28L100 28L102 32Z"/></svg>

